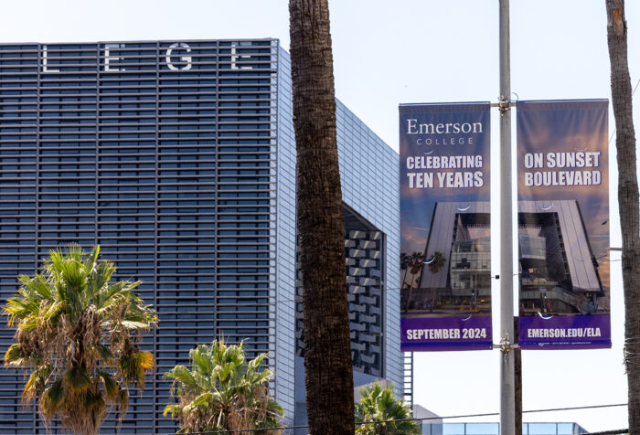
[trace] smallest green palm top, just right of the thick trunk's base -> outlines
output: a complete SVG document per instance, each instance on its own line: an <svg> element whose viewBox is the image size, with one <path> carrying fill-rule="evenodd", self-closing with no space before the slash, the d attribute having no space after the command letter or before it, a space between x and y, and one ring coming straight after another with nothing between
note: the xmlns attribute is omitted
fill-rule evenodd
<svg viewBox="0 0 640 435"><path fill-rule="evenodd" d="M378 381L361 388L362 398L356 404L356 421L376 421L358 424L358 435L413 435L421 433L420 426L411 419L411 409L404 400L395 398L393 387L380 387ZM391 421L389 421L391 420ZM396 420L396 421L393 421Z"/></svg>

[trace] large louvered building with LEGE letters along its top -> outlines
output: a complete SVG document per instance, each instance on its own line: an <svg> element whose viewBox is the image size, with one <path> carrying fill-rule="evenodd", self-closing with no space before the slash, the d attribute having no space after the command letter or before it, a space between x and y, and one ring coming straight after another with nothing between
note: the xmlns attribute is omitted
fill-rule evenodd
<svg viewBox="0 0 640 435"><path fill-rule="evenodd" d="M69 242L144 281L156 366L123 433L176 430L162 374L218 337L269 354L287 422L304 406L290 76L275 39L0 45L0 299ZM336 112L354 369L401 389L398 154ZM0 371L0 433L44 432L25 381Z"/></svg>

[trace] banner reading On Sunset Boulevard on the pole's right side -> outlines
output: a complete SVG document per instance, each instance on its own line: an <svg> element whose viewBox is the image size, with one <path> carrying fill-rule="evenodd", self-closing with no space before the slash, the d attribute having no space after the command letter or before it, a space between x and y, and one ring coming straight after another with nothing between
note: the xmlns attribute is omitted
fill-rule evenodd
<svg viewBox="0 0 640 435"><path fill-rule="evenodd" d="M522 348L611 347L607 111L517 102Z"/></svg>

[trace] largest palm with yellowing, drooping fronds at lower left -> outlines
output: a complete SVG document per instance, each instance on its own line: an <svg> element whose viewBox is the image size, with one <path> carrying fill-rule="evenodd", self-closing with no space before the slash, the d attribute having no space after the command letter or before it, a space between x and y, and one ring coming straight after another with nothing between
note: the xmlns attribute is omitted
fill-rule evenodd
<svg viewBox="0 0 640 435"><path fill-rule="evenodd" d="M138 342L157 323L155 312L133 292L140 281L109 282L115 267L99 252L77 244L49 252L40 274L19 277L4 307L16 326L5 366L30 371L23 400L36 401L46 423L58 417L79 435L97 434L109 408L122 418L129 384L144 388L154 366Z"/></svg>

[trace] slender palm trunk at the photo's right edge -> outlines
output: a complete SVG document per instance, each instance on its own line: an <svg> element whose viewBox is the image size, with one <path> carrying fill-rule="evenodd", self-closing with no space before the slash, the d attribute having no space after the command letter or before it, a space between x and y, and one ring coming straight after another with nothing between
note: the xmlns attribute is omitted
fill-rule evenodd
<svg viewBox="0 0 640 435"><path fill-rule="evenodd" d="M623 233L624 362L629 386L629 434L640 435L640 226L624 0L606 0L606 10Z"/></svg>

